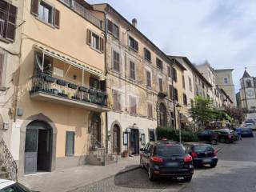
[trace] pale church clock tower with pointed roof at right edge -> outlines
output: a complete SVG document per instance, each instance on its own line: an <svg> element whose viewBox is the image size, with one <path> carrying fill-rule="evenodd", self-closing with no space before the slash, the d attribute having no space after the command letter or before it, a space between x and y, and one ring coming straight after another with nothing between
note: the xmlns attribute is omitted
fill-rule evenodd
<svg viewBox="0 0 256 192"><path fill-rule="evenodd" d="M256 111L256 78L251 77L245 70L242 78L240 79L241 89L241 106L249 112Z"/></svg>

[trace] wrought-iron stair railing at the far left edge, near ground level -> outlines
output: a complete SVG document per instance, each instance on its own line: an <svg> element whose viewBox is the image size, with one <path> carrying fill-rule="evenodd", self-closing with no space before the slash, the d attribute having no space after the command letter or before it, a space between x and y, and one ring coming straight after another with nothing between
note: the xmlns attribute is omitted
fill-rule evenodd
<svg viewBox="0 0 256 192"><path fill-rule="evenodd" d="M6 168L9 178L17 182L17 164L14 161L12 154L10 154L8 147L6 146L6 142L3 139L0 142L0 162L2 162L2 166Z"/></svg>

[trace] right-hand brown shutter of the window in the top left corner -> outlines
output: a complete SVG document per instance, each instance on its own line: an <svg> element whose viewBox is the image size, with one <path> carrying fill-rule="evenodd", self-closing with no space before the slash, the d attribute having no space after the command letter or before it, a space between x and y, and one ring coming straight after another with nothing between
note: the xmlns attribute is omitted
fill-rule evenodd
<svg viewBox="0 0 256 192"><path fill-rule="evenodd" d="M14 41L16 29L17 7L9 4L7 26L6 26L6 39Z"/></svg>

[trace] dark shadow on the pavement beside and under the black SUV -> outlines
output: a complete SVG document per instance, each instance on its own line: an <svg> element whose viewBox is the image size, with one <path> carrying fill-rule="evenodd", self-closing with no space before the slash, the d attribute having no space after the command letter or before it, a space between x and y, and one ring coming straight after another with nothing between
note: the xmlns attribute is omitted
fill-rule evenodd
<svg viewBox="0 0 256 192"><path fill-rule="evenodd" d="M161 178L150 182L146 170L142 170L141 168L116 174L114 177L115 186L133 189L163 189L167 186L182 186L183 183L182 180L178 181L172 178Z"/></svg>

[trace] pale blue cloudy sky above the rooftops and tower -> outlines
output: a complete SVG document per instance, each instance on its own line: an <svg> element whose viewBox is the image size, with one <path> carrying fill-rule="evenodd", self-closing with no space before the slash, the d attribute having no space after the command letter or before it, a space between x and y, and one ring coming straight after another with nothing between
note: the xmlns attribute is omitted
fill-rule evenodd
<svg viewBox="0 0 256 192"><path fill-rule="evenodd" d="M233 68L239 89L245 67L256 76L255 0L88 0L107 2L166 54Z"/></svg>

